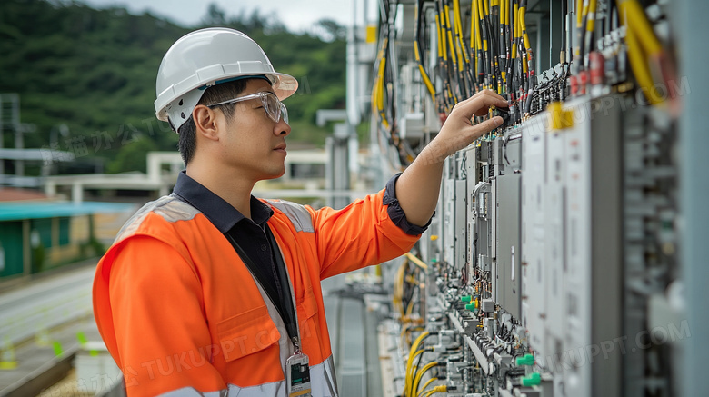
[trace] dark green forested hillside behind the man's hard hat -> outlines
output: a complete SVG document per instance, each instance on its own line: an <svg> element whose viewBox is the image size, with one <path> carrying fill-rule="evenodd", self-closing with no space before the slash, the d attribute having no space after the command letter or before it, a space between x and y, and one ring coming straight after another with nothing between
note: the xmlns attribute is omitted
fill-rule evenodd
<svg viewBox="0 0 709 397"><path fill-rule="evenodd" d="M108 172L145 170L145 152L176 150L176 134L155 119L160 60L181 35L215 25L244 31L276 70L298 79L298 93L285 102L294 130L289 140L322 145L327 131L315 126L315 111L345 106L342 28L324 21L321 30L332 38L325 42L263 15L231 16L214 5L203 21L179 26L123 8L0 2L0 93L20 94L22 122L34 124L25 147L73 152L80 163L103 158ZM13 146L5 133L5 147Z"/></svg>

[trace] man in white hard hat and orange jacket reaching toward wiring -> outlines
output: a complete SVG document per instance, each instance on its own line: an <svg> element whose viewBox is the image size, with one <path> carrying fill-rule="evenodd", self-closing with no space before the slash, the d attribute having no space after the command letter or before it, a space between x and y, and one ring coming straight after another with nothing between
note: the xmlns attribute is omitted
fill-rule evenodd
<svg viewBox="0 0 709 397"><path fill-rule="evenodd" d="M296 88L232 29L193 32L165 54L155 110L186 171L125 224L94 285L129 396L338 395L320 281L407 252L434 213L444 158L502 123L472 116L506 106L476 94L383 191L315 211L251 195L285 172L280 100Z"/></svg>

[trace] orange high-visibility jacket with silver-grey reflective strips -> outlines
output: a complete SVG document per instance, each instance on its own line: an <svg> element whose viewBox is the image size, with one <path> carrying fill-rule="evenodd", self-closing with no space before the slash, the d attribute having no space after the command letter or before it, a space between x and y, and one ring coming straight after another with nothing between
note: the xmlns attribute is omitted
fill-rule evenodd
<svg viewBox="0 0 709 397"><path fill-rule="evenodd" d="M296 303L313 396L336 396L320 281L407 252L384 190L345 209L265 201ZM284 323L225 235L175 194L146 204L98 264L94 313L129 396L285 396ZM220 394L221 392L221 394Z"/></svg>

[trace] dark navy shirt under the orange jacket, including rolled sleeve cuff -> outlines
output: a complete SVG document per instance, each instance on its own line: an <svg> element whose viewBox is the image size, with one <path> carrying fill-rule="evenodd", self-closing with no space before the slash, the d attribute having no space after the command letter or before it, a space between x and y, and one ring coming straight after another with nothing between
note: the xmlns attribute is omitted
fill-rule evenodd
<svg viewBox="0 0 709 397"><path fill-rule="evenodd" d="M411 224L406 220L406 215L399 206L395 192L395 184L399 175L394 175L387 182L384 192L383 203L388 205L389 218L407 234L424 233L431 221L429 220L424 227ZM177 175L177 183L173 192L185 203L189 203L204 213L219 232L224 233L227 239L231 237L243 248L251 262L254 263L254 266L249 266L248 263L246 265L275 304L284 323L295 324L295 313L285 265L278 260L281 252L277 246L271 246L266 234L270 233L267 230L267 222L274 214L271 207L252 195L251 219L246 218L230 203L226 203L224 199L189 177L184 171Z"/></svg>

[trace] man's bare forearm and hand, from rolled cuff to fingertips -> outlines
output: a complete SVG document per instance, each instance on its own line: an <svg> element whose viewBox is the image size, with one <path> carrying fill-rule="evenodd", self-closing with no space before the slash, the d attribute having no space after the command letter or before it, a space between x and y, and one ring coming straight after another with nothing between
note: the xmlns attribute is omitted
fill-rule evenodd
<svg viewBox="0 0 709 397"><path fill-rule="evenodd" d="M396 181L396 198L410 223L423 226L433 215L445 158L503 123L502 117L497 116L473 124L473 116L487 114L490 106L507 107L507 101L484 90L456 104L441 132Z"/></svg>

